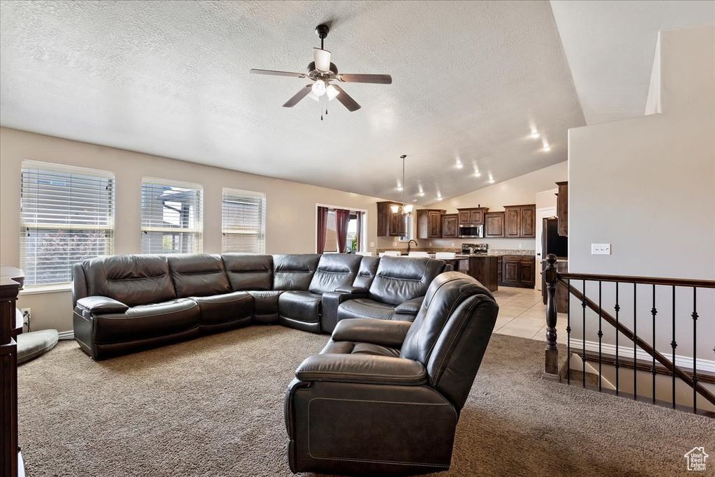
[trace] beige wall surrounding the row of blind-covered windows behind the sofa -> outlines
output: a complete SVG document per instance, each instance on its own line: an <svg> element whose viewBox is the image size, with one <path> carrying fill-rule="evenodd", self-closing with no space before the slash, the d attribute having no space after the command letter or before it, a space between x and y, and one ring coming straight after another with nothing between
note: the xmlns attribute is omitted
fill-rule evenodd
<svg viewBox="0 0 715 477"><path fill-rule="evenodd" d="M142 177L159 177L204 187L203 250L221 251L222 187L266 194L267 253L315 252L316 203L367 210L368 250L377 242L376 197L192 164L83 142L0 128L0 262L19 266L20 169L22 159L113 171L117 181L114 252L139 253ZM240 167L240 164L237 164ZM70 293L24 294L35 330L71 330Z"/></svg>

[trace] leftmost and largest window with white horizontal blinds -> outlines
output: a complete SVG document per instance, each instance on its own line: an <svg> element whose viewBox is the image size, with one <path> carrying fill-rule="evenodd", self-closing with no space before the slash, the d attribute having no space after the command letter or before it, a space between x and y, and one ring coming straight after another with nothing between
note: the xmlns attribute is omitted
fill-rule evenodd
<svg viewBox="0 0 715 477"><path fill-rule="evenodd" d="M20 214L25 284L69 283L73 263L113 252L114 174L23 161Z"/></svg>

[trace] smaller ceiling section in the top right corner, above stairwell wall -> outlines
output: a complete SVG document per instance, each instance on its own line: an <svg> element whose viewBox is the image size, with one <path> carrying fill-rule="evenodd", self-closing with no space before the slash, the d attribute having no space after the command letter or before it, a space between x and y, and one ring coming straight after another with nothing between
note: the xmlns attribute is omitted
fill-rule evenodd
<svg viewBox="0 0 715 477"><path fill-rule="evenodd" d="M587 124L642 116L661 30L715 24L715 1L551 0Z"/></svg>

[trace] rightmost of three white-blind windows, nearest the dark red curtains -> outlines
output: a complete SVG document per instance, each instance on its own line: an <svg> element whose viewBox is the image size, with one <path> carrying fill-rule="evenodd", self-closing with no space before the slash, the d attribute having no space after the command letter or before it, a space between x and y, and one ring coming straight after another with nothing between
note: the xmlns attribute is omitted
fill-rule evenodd
<svg viewBox="0 0 715 477"><path fill-rule="evenodd" d="M265 253L266 195L224 189L221 204L221 251Z"/></svg>

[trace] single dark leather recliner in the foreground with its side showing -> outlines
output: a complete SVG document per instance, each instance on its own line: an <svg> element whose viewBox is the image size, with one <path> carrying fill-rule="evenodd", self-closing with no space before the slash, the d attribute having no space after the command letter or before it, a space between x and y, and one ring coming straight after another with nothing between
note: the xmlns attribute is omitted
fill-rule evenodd
<svg viewBox="0 0 715 477"><path fill-rule="evenodd" d="M447 470L460 410L497 313L479 282L447 272L430 284L414 323L337 323L286 391L291 470Z"/></svg>

